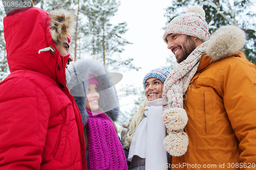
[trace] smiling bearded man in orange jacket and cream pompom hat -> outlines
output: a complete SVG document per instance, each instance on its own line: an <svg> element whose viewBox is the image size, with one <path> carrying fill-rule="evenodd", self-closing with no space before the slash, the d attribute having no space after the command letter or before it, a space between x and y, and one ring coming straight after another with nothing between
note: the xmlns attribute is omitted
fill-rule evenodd
<svg viewBox="0 0 256 170"><path fill-rule="evenodd" d="M179 63L163 87L172 169L253 165L256 66L241 51L245 33L224 26L210 36L204 10L193 6L170 21L163 39Z"/></svg>

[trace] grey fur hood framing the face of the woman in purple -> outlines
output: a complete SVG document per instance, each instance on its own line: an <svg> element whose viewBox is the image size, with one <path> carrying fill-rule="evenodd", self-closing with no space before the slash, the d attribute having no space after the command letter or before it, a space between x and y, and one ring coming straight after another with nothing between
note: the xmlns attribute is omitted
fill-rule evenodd
<svg viewBox="0 0 256 170"><path fill-rule="evenodd" d="M68 88L80 110L83 125L86 125L88 119L85 106L89 75L95 77L99 82L97 90L100 94L100 109L108 114L113 121L116 121L119 114L119 102L113 84L109 81L108 72L106 72L103 64L95 60L81 59L69 65L68 69L71 76Z"/></svg>

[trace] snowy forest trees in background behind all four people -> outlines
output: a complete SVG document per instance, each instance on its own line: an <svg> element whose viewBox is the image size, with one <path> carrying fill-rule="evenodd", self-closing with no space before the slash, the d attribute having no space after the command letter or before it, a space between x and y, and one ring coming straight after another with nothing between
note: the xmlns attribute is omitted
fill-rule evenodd
<svg viewBox="0 0 256 170"><path fill-rule="evenodd" d="M143 63L135 63L134 57L136 56L121 56L126 45L134 45L133 42L124 38L128 30L127 23L125 20L120 23L112 22L122 1L41 0L37 7L48 12L59 7L73 11L76 23L70 49L75 60L85 56L91 57L102 62L110 72L125 73L133 70L136 75L136 72L139 72L143 67ZM160 1L155 3L160 3ZM147 1L144 2L146 3ZM256 64L256 0L177 0L168 2L169 6L164 8L166 21L160 26L163 30L170 20L183 13L188 6L199 5L205 10L210 33L215 32L224 25L235 25L245 31L247 42L243 52L249 61ZM136 4L133 5L136 6ZM131 12L133 12L132 10ZM154 11L152 12L154 13ZM5 16L4 7L0 4L0 81L3 81L10 74L4 40L3 18ZM140 18L138 17L138 19ZM151 48L151 46L148 47ZM147 58L153 59L153 62L154 57L147 56ZM172 54L169 54L162 64L162 66L171 68L175 65L176 61ZM153 68L155 67L153 66ZM120 102L120 116L118 122L116 122L120 132L122 129L121 123L129 121L132 115L136 113L138 106L145 100L145 97L142 86L135 86L132 81L125 83L117 91L119 101L122 101ZM125 101L129 102L130 105L127 106Z"/></svg>

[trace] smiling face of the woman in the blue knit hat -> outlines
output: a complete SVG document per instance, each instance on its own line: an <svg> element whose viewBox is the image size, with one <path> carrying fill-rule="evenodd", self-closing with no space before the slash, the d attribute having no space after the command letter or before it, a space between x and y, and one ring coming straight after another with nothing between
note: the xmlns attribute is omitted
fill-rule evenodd
<svg viewBox="0 0 256 170"><path fill-rule="evenodd" d="M163 98L163 82L157 78L148 78L145 83L145 96L148 101Z"/></svg>

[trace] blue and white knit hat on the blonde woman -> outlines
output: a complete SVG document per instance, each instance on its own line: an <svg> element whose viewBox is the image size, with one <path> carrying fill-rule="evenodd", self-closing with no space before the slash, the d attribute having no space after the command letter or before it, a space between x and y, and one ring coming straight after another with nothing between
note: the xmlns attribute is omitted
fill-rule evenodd
<svg viewBox="0 0 256 170"><path fill-rule="evenodd" d="M170 69L167 67L164 68L156 68L151 70L150 72L148 72L146 74L146 76L143 79L143 88L145 90L145 83L146 80L152 77L155 77L157 79L159 79L161 82L164 83L164 81L166 80L166 78L168 77L168 75L170 74Z"/></svg>

